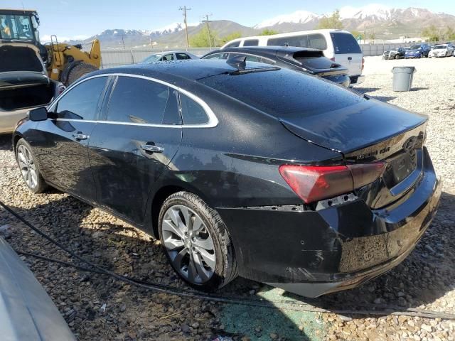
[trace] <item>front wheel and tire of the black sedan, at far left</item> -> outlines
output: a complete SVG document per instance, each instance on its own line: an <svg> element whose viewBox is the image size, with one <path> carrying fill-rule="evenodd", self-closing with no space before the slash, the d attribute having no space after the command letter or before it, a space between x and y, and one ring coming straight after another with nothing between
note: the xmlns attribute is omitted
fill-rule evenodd
<svg viewBox="0 0 455 341"><path fill-rule="evenodd" d="M20 139L16 144L16 161L28 189L33 193L43 193L48 185L41 175L30 144L24 139Z"/></svg>

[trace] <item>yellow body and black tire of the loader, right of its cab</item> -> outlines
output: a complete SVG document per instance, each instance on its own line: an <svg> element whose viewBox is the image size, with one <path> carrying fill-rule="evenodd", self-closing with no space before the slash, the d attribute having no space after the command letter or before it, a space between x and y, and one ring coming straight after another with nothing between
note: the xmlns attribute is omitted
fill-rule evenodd
<svg viewBox="0 0 455 341"><path fill-rule="evenodd" d="M83 75L100 69L100 40L93 40L90 52L82 51L82 45L58 43L56 36L50 37L50 43L44 45L47 50L45 61L48 75L64 85L70 85Z"/></svg>

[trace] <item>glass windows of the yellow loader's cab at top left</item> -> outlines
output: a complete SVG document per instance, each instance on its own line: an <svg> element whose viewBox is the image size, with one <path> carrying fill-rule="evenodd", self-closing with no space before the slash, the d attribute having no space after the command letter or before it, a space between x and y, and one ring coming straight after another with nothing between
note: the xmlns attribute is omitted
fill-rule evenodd
<svg viewBox="0 0 455 341"><path fill-rule="evenodd" d="M35 40L29 16L0 14L0 38L11 40Z"/></svg>

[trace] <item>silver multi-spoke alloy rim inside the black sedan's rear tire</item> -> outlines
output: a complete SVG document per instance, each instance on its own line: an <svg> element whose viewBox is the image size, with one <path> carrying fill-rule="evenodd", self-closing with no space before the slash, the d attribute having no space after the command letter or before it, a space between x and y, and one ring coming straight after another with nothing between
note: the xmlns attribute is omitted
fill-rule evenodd
<svg viewBox="0 0 455 341"><path fill-rule="evenodd" d="M183 205L166 210L161 226L164 247L173 267L186 280L202 284L215 273L213 239L201 217Z"/></svg>

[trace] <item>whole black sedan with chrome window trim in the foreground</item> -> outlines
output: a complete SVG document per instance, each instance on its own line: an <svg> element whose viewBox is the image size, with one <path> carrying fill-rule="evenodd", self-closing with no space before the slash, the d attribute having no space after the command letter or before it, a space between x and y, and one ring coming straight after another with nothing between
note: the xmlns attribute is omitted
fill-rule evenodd
<svg viewBox="0 0 455 341"><path fill-rule="evenodd" d="M185 60L94 72L13 135L50 185L161 239L213 290L237 274L305 296L400 263L437 210L427 117L302 72Z"/></svg>

